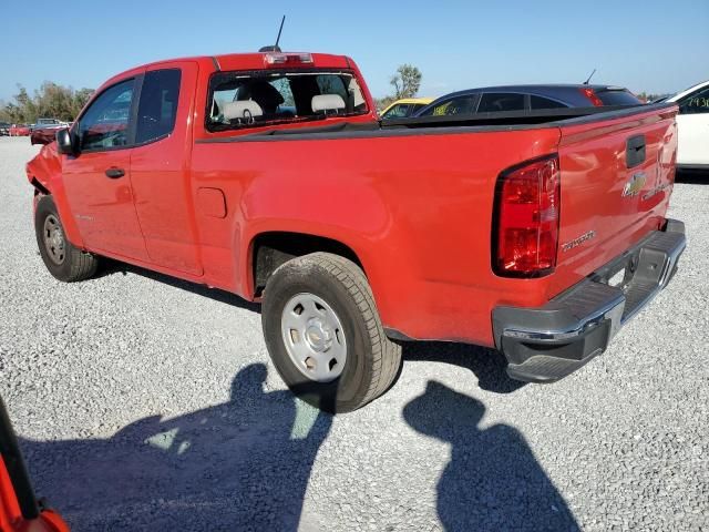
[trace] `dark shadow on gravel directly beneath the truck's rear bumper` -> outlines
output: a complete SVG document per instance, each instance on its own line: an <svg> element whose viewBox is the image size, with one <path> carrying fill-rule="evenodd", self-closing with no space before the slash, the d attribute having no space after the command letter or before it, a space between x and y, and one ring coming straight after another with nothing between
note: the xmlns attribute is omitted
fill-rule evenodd
<svg viewBox="0 0 709 532"><path fill-rule="evenodd" d="M403 359L404 364L445 362L470 369L477 377L481 389L495 393L512 393L526 385L507 377L507 362L500 351L480 346L444 341L404 342Z"/></svg>

